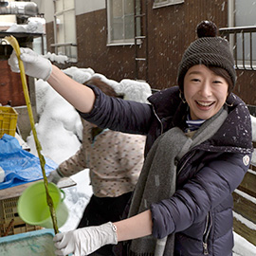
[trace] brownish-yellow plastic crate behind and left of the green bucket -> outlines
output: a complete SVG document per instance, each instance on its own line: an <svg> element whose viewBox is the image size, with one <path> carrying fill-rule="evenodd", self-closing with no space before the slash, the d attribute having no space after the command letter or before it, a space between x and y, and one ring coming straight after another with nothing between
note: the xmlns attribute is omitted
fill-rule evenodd
<svg viewBox="0 0 256 256"><path fill-rule="evenodd" d="M25 223L18 214L17 204L19 197L0 200L0 236L25 233L42 229Z"/></svg>

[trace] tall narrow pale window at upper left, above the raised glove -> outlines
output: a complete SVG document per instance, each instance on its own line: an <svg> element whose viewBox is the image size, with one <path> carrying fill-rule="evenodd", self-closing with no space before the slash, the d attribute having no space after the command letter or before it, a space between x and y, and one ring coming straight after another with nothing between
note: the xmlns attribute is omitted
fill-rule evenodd
<svg viewBox="0 0 256 256"><path fill-rule="evenodd" d="M77 61L77 35L74 0L54 1L54 42L56 54L68 57L69 62Z"/></svg>

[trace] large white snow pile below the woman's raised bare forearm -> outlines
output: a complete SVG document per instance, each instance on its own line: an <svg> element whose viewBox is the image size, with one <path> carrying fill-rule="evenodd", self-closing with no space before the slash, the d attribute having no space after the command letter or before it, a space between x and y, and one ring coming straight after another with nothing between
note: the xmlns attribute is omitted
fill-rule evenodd
<svg viewBox="0 0 256 256"><path fill-rule="evenodd" d="M47 82L36 82L36 101L39 122L36 131L42 154L60 164L74 155L81 145L82 122L79 114L57 94ZM27 137L31 153L37 155L33 136Z"/></svg>

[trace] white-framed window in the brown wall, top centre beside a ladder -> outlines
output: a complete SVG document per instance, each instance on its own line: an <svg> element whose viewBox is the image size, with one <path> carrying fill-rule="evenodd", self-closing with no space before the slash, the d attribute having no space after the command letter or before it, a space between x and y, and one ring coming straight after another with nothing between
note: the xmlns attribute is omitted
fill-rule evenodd
<svg viewBox="0 0 256 256"><path fill-rule="evenodd" d="M137 5L139 1L137 1ZM135 42L134 0L108 0L108 45L131 45ZM139 11L139 9L137 9ZM137 22L139 28L139 22ZM137 31L140 31L139 29Z"/></svg>

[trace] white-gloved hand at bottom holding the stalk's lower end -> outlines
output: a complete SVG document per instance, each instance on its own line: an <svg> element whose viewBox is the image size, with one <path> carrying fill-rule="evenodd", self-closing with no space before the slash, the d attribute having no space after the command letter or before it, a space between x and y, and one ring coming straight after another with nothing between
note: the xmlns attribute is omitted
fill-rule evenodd
<svg viewBox="0 0 256 256"><path fill-rule="evenodd" d="M73 253L74 256L83 256L105 245L117 245L118 235L116 226L108 222L101 226L58 233L54 236L53 242L57 248L56 255Z"/></svg>

